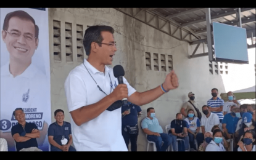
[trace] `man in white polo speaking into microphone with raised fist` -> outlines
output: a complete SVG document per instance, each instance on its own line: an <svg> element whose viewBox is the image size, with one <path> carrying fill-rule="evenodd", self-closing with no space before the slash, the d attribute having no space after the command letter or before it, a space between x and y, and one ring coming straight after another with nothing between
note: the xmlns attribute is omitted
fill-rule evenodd
<svg viewBox="0 0 256 160"><path fill-rule="evenodd" d="M90 26L83 39L88 59L70 71L65 81L76 151L128 151L122 136L122 100L146 105L178 87L174 71L163 84L146 92L137 92L124 77L123 84L118 84L120 75L115 75L117 79L107 67L117 51L113 34L111 26Z"/></svg>

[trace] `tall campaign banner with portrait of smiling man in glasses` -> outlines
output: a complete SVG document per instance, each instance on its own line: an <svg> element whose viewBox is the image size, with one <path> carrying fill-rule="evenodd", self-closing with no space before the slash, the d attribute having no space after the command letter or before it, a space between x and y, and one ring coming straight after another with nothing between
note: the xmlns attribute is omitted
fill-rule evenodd
<svg viewBox="0 0 256 160"><path fill-rule="evenodd" d="M0 11L0 137L7 140L9 151L15 151L11 129L18 121L12 113L15 108L22 108L26 122L38 127L38 147L48 151L51 91L47 10L7 8Z"/></svg>

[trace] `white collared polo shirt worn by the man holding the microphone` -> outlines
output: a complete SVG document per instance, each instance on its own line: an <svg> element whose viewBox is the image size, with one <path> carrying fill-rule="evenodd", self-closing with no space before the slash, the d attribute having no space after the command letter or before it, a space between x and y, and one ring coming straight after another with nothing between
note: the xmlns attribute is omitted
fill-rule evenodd
<svg viewBox="0 0 256 160"><path fill-rule="evenodd" d="M128 87L128 96L136 92L125 78L123 78L123 83ZM85 60L84 63L70 71L65 81L68 110L71 112L82 106L97 103L104 98L106 95L99 90L97 85L107 95L113 92L118 85L118 80L111 68L105 66L105 73L102 73ZM77 126L71 118L71 128L76 151L128 151L122 136L121 107L114 111L105 110L97 118L81 126Z"/></svg>

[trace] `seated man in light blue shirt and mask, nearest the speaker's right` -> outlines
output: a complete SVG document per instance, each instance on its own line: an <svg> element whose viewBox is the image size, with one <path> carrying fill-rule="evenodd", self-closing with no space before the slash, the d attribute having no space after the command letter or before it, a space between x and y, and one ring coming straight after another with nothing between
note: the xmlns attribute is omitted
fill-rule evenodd
<svg viewBox="0 0 256 160"><path fill-rule="evenodd" d="M154 108L147 108L147 117L142 120L141 127L143 132L147 134L147 140L155 142L157 151L166 151L168 146L171 145L171 137L163 133L158 119L155 118Z"/></svg>

